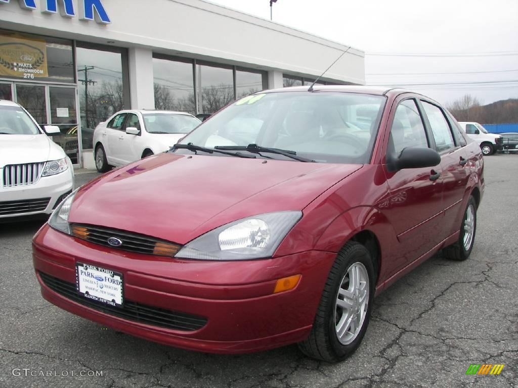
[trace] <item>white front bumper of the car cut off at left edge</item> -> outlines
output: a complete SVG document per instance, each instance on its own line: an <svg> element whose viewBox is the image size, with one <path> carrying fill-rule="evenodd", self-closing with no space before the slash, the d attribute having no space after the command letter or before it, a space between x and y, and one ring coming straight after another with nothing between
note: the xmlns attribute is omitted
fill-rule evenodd
<svg viewBox="0 0 518 388"><path fill-rule="evenodd" d="M73 188L74 169L71 165L60 174L40 177L32 185L3 187L0 183L0 219L51 214L56 203ZM33 202L39 205L36 211L31 211L26 205ZM44 202L46 205L41 206Z"/></svg>

